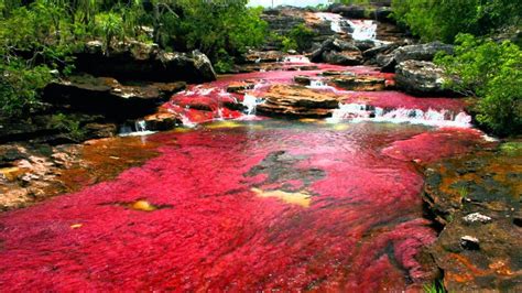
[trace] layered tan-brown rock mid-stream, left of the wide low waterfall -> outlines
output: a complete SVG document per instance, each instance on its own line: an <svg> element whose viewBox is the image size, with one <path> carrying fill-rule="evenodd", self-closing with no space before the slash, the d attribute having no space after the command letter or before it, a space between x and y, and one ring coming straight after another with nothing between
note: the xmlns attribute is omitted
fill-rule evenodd
<svg viewBox="0 0 522 293"><path fill-rule="evenodd" d="M263 94L258 112L289 117L327 117L339 105L337 96L304 86L272 86Z"/></svg>

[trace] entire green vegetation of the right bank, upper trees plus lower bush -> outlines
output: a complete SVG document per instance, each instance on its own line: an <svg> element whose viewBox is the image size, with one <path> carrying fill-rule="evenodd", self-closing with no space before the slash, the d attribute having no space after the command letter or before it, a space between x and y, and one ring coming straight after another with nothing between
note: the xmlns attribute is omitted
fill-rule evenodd
<svg viewBox="0 0 522 293"><path fill-rule="evenodd" d="M522 52L511 41L493 41L520 30L522 2L511 0L394 0L395 19L424 41L456 44L454 56L436 63L455 77L447 87L479 98L477 121L498 135L522 129ZM514 36L512 34L512 36Z"/></svg>

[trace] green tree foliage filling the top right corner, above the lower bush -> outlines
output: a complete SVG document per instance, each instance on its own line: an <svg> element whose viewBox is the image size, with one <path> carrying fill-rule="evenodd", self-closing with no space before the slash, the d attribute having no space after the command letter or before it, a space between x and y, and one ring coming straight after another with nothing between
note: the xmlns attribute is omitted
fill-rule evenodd
<svg viewBox="0 0 522 293"><path fill-rule="evenodd" d="M512 0L393 0L395 19L424 41L453 42L459 33L477 36L520 26L522 2Z"/></svg>

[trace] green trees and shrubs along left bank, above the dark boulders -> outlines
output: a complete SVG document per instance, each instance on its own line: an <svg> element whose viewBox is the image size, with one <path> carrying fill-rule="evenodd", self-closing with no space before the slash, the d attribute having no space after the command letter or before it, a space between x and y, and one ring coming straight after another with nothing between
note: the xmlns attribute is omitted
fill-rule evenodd
<svg viewBox="0 0 522 293"><path fill-rule="evenodd" d="M74 53L94 39L110 54L116 42L199 50L227 70L233 57L264 41L261 9L247 0L0 0L0 116L37 110L39 95L69 74Z"/></svg>

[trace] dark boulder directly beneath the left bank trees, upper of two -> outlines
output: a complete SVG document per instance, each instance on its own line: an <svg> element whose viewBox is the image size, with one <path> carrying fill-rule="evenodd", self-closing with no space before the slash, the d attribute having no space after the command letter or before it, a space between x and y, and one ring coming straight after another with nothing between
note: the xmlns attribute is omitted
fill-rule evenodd
<svg viewBox="0 0 522 293"><path fill-rule="evenodd" d="M108 52L93 41L76 54L76 69L95 76L122 80L204 83L216 79L208 57L199 51L168 53L154 44L119 43Z"/></svg>

